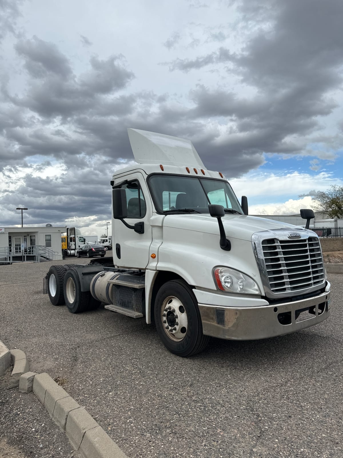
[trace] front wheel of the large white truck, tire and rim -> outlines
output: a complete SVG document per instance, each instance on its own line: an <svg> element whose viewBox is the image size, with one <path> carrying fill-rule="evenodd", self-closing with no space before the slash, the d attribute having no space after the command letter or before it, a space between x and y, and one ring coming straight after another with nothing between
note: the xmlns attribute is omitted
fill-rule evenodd
<svg viewBox="0 0 343 458"><path fill-rule="evenodd" d="M159 289L155 300L155 324L165 347L178 356L193 356L209 342L204 336L198 303L188 284L172 280Z"/></svg>

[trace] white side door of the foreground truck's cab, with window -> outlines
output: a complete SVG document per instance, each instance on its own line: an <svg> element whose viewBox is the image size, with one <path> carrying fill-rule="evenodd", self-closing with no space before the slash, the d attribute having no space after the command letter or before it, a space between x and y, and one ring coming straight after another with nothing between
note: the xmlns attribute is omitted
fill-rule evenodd
<svg viewBox="0 0 343 458"><path fill-rule="evenodd" d="M144 223L144 233L139 234L128 228L122 220L112 218L113 261L118 267L145 269L149 263L149 248L152 241L150 194L140 172L116 178L114 186L119 183L123 183L118 187L125 190L128 211L128 217L123 221L130 226Z"/></svg>

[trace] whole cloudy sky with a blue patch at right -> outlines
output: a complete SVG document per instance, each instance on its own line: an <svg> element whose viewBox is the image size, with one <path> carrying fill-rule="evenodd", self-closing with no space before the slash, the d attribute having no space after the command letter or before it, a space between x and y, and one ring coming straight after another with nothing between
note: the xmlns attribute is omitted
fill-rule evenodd
<svg viewBox="0 0 343 458"><path fill-rule="evenodd" d="M192 140L250 213L311 207L343 184L342 24L342 0L0 0L0 226L103 233L127 127Z"/></svg>

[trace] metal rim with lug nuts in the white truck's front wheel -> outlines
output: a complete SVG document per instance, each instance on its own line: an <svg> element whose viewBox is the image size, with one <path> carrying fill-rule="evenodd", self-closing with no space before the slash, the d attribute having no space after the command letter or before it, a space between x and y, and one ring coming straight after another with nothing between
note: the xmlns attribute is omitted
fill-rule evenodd
<svg viewBox="0 0 343 458"><path fill-rule="evenodd" d="M188 330L188 318L181 300L168 296L162 304L161 322L166 335L174 342L181 342Z"/></svg>

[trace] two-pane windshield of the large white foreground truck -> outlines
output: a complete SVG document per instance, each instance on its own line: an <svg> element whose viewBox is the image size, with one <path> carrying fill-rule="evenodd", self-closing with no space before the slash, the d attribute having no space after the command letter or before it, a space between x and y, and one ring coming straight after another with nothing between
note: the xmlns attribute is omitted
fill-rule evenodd
<svg viewBox="0 0 343 458"><path fill-rule="evenodd" d="M209 213L209 204L222 205L227 213L243 213L229 183L225 180L156 174L149 178L156 210Z"/></svg>

